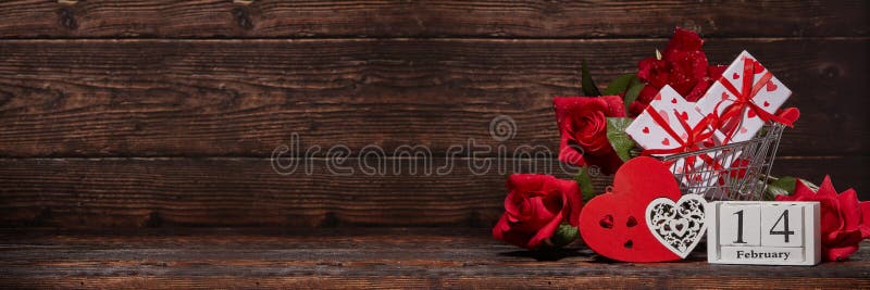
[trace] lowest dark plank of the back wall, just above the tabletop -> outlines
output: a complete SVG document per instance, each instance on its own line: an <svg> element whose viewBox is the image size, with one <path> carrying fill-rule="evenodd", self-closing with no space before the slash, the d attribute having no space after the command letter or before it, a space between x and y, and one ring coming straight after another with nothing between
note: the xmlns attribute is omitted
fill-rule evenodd
<svg viewBox="0 0 870 290"><path fill-rule="evenodd" d="M353 175L336 176L323 159L311 161L311 175L301 165L279 175L268 159L0 160L0 226L489 226L502 213L507 191L496 165L477 175L470 160L459 159L439 175L435 168L446 163L437 159L425 175L427 165L411 161L393 159L385 174L366 175L359 160L348 160ZM774 173L810 179L830 173L840 190L853 187L870 200L867 163L786 159ZM521 171L571 177L536 164ZM610 184L605 176L594 181L597 191Z"/></svg>

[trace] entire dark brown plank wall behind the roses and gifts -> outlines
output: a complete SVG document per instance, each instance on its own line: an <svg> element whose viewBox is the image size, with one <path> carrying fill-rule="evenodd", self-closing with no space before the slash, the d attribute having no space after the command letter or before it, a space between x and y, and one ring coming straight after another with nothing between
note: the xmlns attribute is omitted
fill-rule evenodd
<svg viewBox="0 0 870 290"><path fill-rule="evenodd" d="M867 11L865 1L1 1L0 227L488 227L506 194L499 173L337 177L321 154L312 175L283 176L270 156L293 133L302 147L355 152L426 146L436 165L469 138L555 150L551 100L579 91L581 60L604 86L663 48L674 26L703 34L713 63L751 51L795 91L787 104L803 117L774 173L830 173L870 199ZM518 128L498 142L488 125L502 114Z"/></svg>

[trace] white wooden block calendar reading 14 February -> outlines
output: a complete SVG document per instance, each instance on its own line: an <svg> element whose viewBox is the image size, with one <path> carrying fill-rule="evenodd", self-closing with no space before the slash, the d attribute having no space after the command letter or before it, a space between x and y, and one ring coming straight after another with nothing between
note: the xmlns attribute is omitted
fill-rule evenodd
<svg viewBox="0 0 870 290"><path fill-rule="evenodd" d="M707 206L707 261L816 265L821 261L818 202L718 201Z"/></svg>

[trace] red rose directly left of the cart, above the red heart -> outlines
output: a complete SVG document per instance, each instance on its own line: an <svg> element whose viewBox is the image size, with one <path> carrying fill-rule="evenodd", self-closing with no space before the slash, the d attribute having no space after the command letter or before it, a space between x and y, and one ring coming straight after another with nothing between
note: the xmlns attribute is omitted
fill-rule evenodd
<svg viewBox="0 0 870 290"><path fill-rule="evenodd" d="M611 174L622 165L607 139L607 117L624 117L619 96L561 97L552 100L559 125L559 160L577 166L596 165Z"/></svg>

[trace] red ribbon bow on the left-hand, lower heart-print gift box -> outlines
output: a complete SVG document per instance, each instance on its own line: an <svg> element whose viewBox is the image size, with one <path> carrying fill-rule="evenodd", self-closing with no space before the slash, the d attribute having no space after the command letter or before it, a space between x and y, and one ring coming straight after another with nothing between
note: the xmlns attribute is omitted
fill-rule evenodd
<svg viewBox="0 0 870 290"><path fill-rule="evenodd" d="M668 135L670 135L674 140L676 140L676 142L680 143L680 146L671 149L647 149L644 150L642 155L675 154L675 153L684 153L684 152L700 150L701 147L698 146L698 143L703 143L710 140L710 137L712 137L714 133L714 129L711 126L714 122L713 117L711 116L704 117L693 128L688 125L688 123L686 123L685 119L680 117L680 112L678 112L676 109L674 109L673 112L674 115L676 116L678 122L680 123L680 126L682 126L683 129L686 131L686 138L683 139L680 137L679 134L676 134L676 131L673 130L673 128L671 128L671 126L668 124L664 117L652 109L652 106L647 106L646 112L649 114L650 117L652 117L652 121L656 122L656 124L658 124L659 127L664 129L664 131L668 133ZM716 162L716 160L713 160L712 157L710 157L710 155L707 154L689 155L685 159L685 163L683 164L684 174L687 174L689 172L691 166L695 165L696 157L700 157L701 161L709 164L717 171L722 169L722 165ZM666 165L670 166L671 164L673 164L673 162L674 161L668 161L666 162Z"/></svg>

